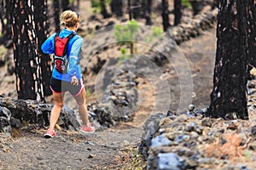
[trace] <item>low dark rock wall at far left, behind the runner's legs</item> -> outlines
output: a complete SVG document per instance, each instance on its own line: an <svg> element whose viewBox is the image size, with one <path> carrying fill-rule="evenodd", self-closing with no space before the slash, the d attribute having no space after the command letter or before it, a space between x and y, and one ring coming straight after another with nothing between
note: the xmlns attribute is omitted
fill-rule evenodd
<svg viewBox="0 0 256 170"><path fill-rule="evenodd" d="M34 100L0 98L0 131L9 133L15 128L40 128L49 125L49 113L53 105ZM75 112L64 106L58 125L63 128L79 129Z"/></svg>

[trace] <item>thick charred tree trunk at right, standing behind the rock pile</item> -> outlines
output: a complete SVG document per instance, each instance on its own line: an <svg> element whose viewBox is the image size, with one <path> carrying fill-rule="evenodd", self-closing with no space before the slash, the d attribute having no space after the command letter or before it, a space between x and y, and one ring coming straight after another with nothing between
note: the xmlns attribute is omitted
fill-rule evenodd
<svg viewBox="0 0 256 170"><path fill-rule="evenodd" d="M208 116L248 119L246 70L253 1L220 0L217 54ZM252 36L252 35L251 35Z"/></svg>

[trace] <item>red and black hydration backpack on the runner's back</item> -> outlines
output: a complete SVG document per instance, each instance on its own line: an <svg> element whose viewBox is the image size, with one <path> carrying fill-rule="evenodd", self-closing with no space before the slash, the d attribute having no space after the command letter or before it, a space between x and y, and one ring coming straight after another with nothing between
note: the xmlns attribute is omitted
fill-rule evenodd
<svg viewBox="0 0 256 170"><path fill-rule="evenodd" d="M59 32L55 34L55 68L60 73L66 73L68 67L68 42L75 36L72 32L68 37L59 37Z"/></svg>

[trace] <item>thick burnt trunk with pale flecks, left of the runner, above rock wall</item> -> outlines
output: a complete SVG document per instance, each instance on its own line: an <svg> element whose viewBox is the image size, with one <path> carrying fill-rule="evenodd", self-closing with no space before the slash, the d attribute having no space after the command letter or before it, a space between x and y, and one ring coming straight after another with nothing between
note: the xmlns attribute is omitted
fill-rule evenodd
<svg viewBox="0 0 256 170"><path fill-rule="evenodd" d="M18 99L44 100L33 1L10 1Z"/></svg>

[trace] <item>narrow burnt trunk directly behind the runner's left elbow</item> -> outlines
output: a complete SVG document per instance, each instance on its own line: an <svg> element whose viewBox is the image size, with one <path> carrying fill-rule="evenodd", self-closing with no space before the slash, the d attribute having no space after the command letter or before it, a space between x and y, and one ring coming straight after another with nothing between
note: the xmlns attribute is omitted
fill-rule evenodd
<svg viewBox="0 0 256 170"><path fill-rule="evenodd" d="M34 0L35 2L35 26L38 37L38 51L41 59L40 68L42 71L42 83L44 86L44 96L52 94L49 88L49 79L51 77L51 59L48 54L44 54L41 50L43 42L49 35L49 26L47 22L47 0Z"/></svg>

